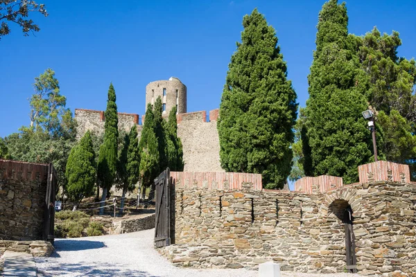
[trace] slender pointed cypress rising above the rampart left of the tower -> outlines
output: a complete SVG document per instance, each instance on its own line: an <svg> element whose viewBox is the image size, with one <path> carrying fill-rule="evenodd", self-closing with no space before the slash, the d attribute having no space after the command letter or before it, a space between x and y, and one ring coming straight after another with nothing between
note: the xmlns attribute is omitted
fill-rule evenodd
<svg viewBox="0 0 416 277"><path fill-rule="evenodd" d="M107 109L105 109L104 116L104 140L98 154L97 168L97 179L101 188L103 188L101 201L105 201L105 198L107 197L107 191L110 190L114 184L117 166L117 139L119 138L119 118L117 114L116 91L114 91L112 83L110 83L110 88L108 89ZM102 202L101 206L105 206L105 203ZM100 213L104 213L103 208L101 208Z"/></svg>

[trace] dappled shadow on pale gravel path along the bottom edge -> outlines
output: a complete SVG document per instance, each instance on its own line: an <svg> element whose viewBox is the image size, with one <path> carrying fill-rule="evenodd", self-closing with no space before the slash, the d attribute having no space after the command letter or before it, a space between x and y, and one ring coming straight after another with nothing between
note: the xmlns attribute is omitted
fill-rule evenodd
<svg viewBox="0 0 416 277"><path fill-rule="evenodd" d="M42 264L42 262L38 262ZM38 267L38 276L40 277L53 277L53 276L66 276L63 272L68 273L70 276L120 276L120 277L159 277L151 275L146 271L122 269L122 265L113 263L96 263L96 264L58 264L42 269Z"/></svg>

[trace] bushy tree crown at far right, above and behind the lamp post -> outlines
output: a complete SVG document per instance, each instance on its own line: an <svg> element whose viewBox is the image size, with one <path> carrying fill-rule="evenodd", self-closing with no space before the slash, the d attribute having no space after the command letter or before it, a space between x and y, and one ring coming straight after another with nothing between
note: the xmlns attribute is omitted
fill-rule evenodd
<svg viewBox="0 0 416 277"><path fill-rule="evenodd" d="M370 105L385 114L395 109L415 123L416 62L397 55L397 48L401 46L399 33L381 35L374 27L364 36L354 36L354 40L361 69L370 83L367 91Z"/></svg>

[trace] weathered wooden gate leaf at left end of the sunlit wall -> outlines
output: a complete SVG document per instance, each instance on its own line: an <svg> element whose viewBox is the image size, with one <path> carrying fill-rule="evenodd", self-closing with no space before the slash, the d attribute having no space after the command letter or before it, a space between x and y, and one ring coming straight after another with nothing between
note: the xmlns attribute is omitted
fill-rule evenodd
<svg viewBox="0 0 416 277"><path fill-rule="evenodd" d="M166 168L155 179L155 247L171 245L171 178Z"/></svg>

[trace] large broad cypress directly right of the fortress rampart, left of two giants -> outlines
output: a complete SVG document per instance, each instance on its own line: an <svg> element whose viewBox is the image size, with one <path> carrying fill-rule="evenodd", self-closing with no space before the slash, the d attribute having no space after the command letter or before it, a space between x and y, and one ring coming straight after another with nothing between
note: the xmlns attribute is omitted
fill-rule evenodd
<svg viewBox="0 0 416 277"><path fill-rule="evenodd" d="M266 188L282 188L291 172L297 96L275 29L257 9L245 15L243 27L220 104L221 166L261 173Z"/></svg>

